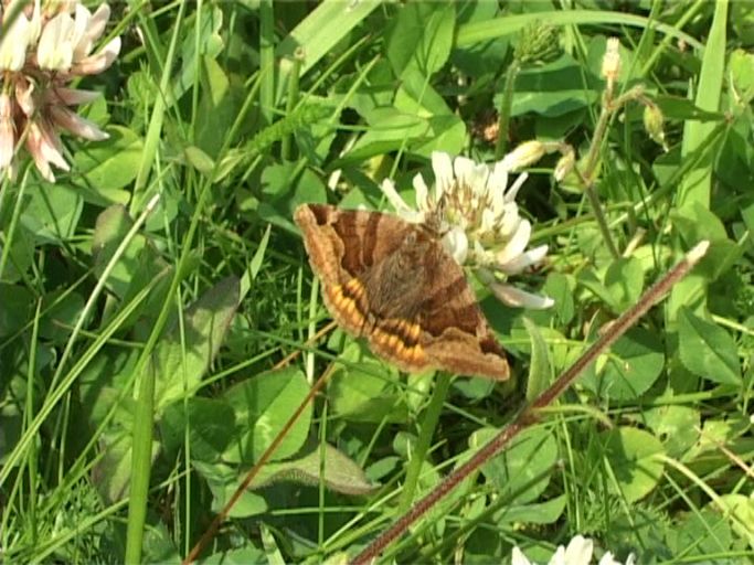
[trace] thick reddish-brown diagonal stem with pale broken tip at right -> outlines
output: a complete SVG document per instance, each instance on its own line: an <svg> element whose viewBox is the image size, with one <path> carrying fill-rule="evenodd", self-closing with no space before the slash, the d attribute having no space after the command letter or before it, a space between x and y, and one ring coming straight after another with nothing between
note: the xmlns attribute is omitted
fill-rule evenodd
<svg viewBox="0 0 754 565"><path fill-rule="evenodd" d="M376 540L369 544L357 555L351 563L365 565L376 558L382 551L393 543L403 532L416 522L425 512L434 507L447 493L458 486L479 467L498 455L508 443L518 434L529 427L537 419L535 411L551 404L573 384L578 375L603 351L609 348L623 335L628 328L644 316L662 296L670 290L689 270L702 258L709 242L699 243L683 259L671 268L660 280L650 287L630 309L625 311L607 330L595 341L576 362L566 369L557 380L550 385L533 403L525 407L516 419L506 426L497 436L477 451L471 459L448 475L436 489L420 500L414 508L403 514L392 526L382 532Z"/></svg>

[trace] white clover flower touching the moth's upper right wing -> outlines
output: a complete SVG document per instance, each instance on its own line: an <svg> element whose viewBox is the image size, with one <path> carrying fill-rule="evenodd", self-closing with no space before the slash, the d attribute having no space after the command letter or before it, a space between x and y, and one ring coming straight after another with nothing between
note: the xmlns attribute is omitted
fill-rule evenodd
<svg viewBox="0 0 754 565"><path fill-rule="evenodd" d="M440 234L443 246L459 265L469 265L503 302L524 308L549 308L553 300L525 292L505 282L548 253L541 245L527 250L531 223L520 217L516 195L527 180L520 174L508 185L508 173L542 157L539 141L519 146L493 167L465 157L455 160L444 152L432 153L434 191L421 174L414 177L416 210L400 196L392 181L382 191L406 222L426 223Z"/></svg>

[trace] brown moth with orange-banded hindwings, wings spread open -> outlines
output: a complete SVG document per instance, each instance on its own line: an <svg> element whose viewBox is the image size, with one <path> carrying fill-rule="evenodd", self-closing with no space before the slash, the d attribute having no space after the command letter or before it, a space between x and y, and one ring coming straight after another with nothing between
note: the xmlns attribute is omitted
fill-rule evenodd
<svg viewBox="0 0 754 565"><path fill-rule="evenodd" d="M428 224L302 204L295 220L336 321L401 370L508 379L505 353L460 266Z"/></svg>

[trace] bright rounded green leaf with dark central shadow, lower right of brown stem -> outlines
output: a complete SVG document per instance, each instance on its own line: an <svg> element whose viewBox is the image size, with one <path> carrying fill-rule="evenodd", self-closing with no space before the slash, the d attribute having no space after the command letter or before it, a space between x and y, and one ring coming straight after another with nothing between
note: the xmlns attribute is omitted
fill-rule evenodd
<svg viewBox="0 0 754 565"><path fill-rule="evenodd" d="M618 481L620 494L628 503L651 492L662 478L663 465L657 456L665 455L659 439L643 429L619 427L602 434L606 465Z"/></svg>

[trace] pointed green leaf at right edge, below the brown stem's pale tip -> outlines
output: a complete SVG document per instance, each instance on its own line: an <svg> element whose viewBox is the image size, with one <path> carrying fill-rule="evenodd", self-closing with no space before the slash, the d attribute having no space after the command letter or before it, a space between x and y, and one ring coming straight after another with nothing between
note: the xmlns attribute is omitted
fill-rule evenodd
<svg viewBox="0 0 754 565"><path fill-rule="evenodd" d="M682 308L678 315L678 341L683 365L695 375L715 383L741 384L741 362L733 338L688 308Z"/></svg>

